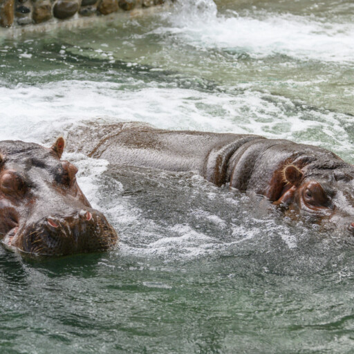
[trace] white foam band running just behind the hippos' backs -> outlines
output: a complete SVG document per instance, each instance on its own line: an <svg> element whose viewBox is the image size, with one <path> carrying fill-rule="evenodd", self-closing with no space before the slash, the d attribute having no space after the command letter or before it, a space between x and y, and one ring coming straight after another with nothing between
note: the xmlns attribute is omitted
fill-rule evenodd
<svg viewBox="0 0 354 354"><path fill-rule="evenodd" d="M343 120L349 124L354 118L311 109L304 115L285 97L251 90L234 95L160 88L156 84L134 91L122 90L121 86L78 80L35 87L0 86L0 140L43 142L75 122L106 117L109 122L139 120L162 129L253 133L314 145L323 142L316 136L309 140L310 136L306 138L302 132L318 129L335 142L335 152L351 149Z"/></svg>

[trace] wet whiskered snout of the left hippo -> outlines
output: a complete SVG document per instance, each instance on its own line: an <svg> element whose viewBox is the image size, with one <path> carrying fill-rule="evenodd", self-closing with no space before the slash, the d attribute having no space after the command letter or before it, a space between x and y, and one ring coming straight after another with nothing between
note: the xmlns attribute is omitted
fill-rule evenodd
<svg viewBox="0 0 354 354"><path fill-rule="evenodd" d="M3 243L25 253L63 255L108 250L117 240L104 215L87 208L28 222L8 234Z"/></svg>

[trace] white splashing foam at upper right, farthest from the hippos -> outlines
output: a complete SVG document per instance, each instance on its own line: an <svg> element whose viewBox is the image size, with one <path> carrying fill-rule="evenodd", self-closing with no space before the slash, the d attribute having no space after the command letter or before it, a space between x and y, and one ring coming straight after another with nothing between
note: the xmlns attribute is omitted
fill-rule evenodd
<svg viewBox="0 0 354 354"><path fill-rule="evenodd" d="M323 22L310 16L255 13L240 17L217 15L212 0L179 1L169 16L167 32L198 48L219 48L252 57L274 54L328 62L354 61L354 24Z"/></svg>

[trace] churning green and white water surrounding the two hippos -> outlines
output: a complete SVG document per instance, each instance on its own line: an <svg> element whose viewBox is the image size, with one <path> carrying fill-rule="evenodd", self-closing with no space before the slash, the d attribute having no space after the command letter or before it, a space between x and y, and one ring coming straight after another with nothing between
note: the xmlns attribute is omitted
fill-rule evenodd
<svg viewBox="0 0 354 354"><path fill-rule="evenodd" d="M48 146L89 122L140 120L288 138L354 162L353 15L350 0L185 0L0 39L0 140ZM0 353L353 352L348 235L192 173L68 149L120 248L38 261L0 249Z"/></svg>

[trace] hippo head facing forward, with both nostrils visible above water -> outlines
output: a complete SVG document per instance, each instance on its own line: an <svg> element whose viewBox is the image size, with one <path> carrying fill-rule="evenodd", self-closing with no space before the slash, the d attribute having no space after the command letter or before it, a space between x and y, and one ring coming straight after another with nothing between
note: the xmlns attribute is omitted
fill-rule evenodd
<svg viewBox="0 0 354 354"><path fill-rule="evenodd" d="M77 168L60 160L64 139L51 148L0 142L0 238L29 254L103 251L118 240L104 215L77 185Z"/></svg>

